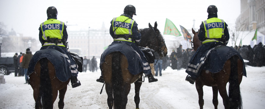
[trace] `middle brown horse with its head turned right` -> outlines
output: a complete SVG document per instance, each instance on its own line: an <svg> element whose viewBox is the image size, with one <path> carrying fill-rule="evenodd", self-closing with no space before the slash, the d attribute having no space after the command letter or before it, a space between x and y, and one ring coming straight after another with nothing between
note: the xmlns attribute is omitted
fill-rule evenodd
<svg viewBox="0 0 265 109"><path fill-rule="evenodd" d="M149 23L149 28L140 29L139 31L142 34L140 46L148 46L154 51L157 51L160 56L167 54L167 47L163 36L157 29L157 22L155 22L154 27ZM136 109L139 108L139 93L142 82L138 82L138 80L142 81L143 73L131 74L128 70L128 61L122 53L115 51L108 54L105 62L102 64L102 73L106 84L106 93L108 94L107 102L109 109L112 109L112 107L114 109L126 108L131 83L135 84L134 101Z"/></svg>

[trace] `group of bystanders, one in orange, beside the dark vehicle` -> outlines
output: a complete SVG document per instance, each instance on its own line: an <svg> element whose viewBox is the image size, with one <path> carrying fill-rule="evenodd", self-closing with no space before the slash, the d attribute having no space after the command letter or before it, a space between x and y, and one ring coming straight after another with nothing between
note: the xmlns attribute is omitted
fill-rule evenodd
<svg viewBox="0 0 265 109"><path fill-rule="evenodd" d="M30 51L30 48L26 49L26 54L20 52L20 54L18 55L18 53L15 53L15 55L13 56L14 59L14 68L15 68L15 77L16 76L25 76L25 81L27 84L27 70L29 67L29 63L30 63L30 59L33 56L32 52Z"/></svg>

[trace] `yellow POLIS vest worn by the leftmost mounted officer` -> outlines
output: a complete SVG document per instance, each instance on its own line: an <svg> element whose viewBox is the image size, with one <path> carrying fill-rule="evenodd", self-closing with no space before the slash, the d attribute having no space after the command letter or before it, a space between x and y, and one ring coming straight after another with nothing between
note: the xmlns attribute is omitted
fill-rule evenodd
<svg viewBox="0 0 265 109"><path fill-rule="evenodd" d="M41 23L42 39L47 40L47 37L62 39L63 37L64 22L57 19L48 19ZM55 45L55 43L45 42L44 45ZM58 43L58 46L64 46L62 43ZM65 46L64 46L65 47Z"/></svg>

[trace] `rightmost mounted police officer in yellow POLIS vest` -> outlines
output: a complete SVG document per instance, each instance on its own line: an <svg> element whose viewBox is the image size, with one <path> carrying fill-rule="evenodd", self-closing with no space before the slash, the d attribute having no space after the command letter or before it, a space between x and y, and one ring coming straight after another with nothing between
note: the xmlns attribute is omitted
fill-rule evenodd
<svg viewBox="0 0 265 109"><path fill-rule="evenodd" d="M207 50L214 48L218 45L227 45L229 40L229 32L227 24L224 20L217 18L217 7L215 5L210 5L207 8L208 18L202 21L200 25L200 30L198 33L199 40L202 41L203 45L200 46L193 57L191 58L189 65L196 65L198 60L200 61L200 55ZM186 81L194 84L196 78L199 76L197 72L191 70L188 66L186 72L191 75L187 75Z"/></svg>

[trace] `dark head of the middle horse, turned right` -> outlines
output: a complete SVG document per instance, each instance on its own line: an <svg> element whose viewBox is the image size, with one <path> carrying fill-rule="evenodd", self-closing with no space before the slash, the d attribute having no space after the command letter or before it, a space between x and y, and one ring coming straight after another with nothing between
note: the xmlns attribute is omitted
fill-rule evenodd
<svg viewBox="0 0 265 109"><path fill-rule="evenodd" d="M157 51L160 57L164 57L168 54L168 48L165 43L165 39L161 32L157 29L157 22L155 22L154 27L149 23L149 43L148 47Z"/></svg>

